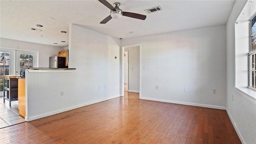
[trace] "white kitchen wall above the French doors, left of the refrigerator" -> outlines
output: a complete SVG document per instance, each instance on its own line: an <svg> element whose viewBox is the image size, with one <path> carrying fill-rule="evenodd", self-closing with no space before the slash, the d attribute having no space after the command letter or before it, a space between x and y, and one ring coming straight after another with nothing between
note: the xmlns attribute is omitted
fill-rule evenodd
<svg viewBox="0 0 256 144"><path fill-rule="evenodd" d="M49 57L58 56L58 52L63 50L63 47L10 40L5 38L0 38L0 47L12 48L16 50L38 51L38 67L40 68L49 68Z"/></svg>

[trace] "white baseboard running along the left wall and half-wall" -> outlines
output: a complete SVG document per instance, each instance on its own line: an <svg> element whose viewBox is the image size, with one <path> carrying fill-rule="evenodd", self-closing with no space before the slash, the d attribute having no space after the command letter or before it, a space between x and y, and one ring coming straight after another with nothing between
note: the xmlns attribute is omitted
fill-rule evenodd
<svg viewBox="0 0 256 144"><path fill-rule="evenodd" d="M112 97L109 97L109 98L104 98L104 99L101 99L101 100L95 100L95 101L92 101L92 102L88 102L88 103L84 103L84 104L80 104L80 105L76 105L76 106L71 106L71 107L68 107L68 108L60 109L60 110L54 110L52 112L48 112L48 113L45 113L45 114L39 114L37 116L25 116L25 120L27 122L29 122L29 121L36 120L36 119L39 119L39 118L44 118L46 116L52 116L54 114L58 114L58 113L61 113L61 112L66 112L68 110L74 110L76 108L81 108L83 106L88 106L88 105L91 105L91 104L96 104L98 102L103 102L105 100L110 100L112 98L117 98L117 97L120 97L120 96L117 95L117 96L112 96Z"/></svg>

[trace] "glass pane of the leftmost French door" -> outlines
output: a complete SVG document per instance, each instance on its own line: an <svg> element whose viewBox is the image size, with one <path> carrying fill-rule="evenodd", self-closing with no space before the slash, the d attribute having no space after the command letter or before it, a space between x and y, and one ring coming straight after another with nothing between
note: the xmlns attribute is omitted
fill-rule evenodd
<svg viewBox="0 0 256 144"><path fill-rule="evenodd" d="M3 75L10 75L10 52L0 52L0 92L4 88Z"/></svg>

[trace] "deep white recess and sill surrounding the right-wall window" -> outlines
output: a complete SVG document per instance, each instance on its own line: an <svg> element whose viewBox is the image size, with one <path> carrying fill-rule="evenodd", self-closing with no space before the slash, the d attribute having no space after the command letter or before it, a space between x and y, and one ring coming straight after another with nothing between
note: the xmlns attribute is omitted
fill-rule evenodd
<svg viewBox="0 0 256 144"><path fill-rule="evenodd" d="M249 22L256 14L256 1L250 1L245 4L242 12L235 22L235 84L236 92L248 97L250 100L256 99L256 91L248 86L248 52L249 52ZM246 26L247 22L247 26ZM245 26L244 29L237 28L238 26ZM244 33L243 33L244 32ZM238 34L239 33L239 34ZM241 35L240 35L241 34ZM246 47L247 52L246 52ZM247 60L246 60L247 59Z"/></svg>

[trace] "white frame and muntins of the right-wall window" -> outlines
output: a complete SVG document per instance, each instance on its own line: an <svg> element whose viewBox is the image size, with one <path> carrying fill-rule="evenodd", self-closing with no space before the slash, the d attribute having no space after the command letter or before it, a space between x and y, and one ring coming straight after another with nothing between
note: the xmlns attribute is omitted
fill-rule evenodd
<svg viewBox="0 0 256 144"><path fill-rule="evenodd" d="M252 20L256 19L256 14L252 17L252 19L249 20L249 52L248 52L248 88L255 90L256 91L256 66L255 66L255 61L256 61L256 50L252 50L252 36L256 35L256 33L252 34ZM254 55L254 70L251 70L252 68L252 60L250 59L250 56ZM251 72L254 72L254 87L250 86L252 78Z"/></svg>

